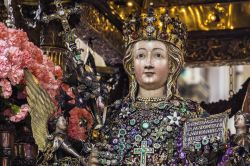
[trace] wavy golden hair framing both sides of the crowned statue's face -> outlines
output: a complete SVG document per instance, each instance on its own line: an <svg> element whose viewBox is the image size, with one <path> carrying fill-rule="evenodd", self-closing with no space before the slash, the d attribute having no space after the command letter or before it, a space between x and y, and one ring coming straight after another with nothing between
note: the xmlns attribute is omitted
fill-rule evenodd
<svg viewBox="0 0 250 166"><path fill-rule="evenodd" d="M123 59L123 65L125 71L129 75L129 94L128 97L135 101L137 91L138 91L138 83L136 82L134 75L134 62L133 62L133 48L135 43L130 44L126 49L126 54ZM167 48L167 54L169 55L169 75L167 81L165 83L165 95L169 99L173 95L178 93L177 91L177 79L182 70L184 58L184 52L179 48L175 47L173 44L165 43Z"/></svg>

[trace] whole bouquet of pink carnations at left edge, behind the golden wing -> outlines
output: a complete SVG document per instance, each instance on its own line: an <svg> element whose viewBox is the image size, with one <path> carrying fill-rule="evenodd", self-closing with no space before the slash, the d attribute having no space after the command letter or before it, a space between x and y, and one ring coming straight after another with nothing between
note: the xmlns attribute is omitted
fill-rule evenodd
<svg viewBox="0 0 250 166"><path fill-rule="evenodd" d="M29 70L56 104L62 70L28 40L22 30L0 23L0 113L12 122L23 120L29 111L24 70Z"/></svg>

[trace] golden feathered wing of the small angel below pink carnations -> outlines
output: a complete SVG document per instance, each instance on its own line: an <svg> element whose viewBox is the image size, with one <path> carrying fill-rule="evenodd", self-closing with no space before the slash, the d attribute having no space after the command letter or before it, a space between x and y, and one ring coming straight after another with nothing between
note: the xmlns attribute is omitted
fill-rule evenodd
<svg viewBox="0 0 250 166"><path fill-rule="evenodd" d="M48 118L56 107L49 94L39 85L38 80L29 71L25 71L27 100L30 106L31 127L33 137L39 150L44 151L48 136Z"/></svg>

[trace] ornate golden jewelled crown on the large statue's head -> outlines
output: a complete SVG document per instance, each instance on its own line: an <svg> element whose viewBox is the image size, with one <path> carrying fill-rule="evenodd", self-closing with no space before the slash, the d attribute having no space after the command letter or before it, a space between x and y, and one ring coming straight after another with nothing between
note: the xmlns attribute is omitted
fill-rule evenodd
<svg viewBox="0 0 250 166"><path fill-rule="evenodd" d="M157 16L153 4L150 4L146 14L128 17L123 25L123 39L126 47L139 40L160 40L184 50L187 27L178 17L170 17L167 11Z"/></svg>

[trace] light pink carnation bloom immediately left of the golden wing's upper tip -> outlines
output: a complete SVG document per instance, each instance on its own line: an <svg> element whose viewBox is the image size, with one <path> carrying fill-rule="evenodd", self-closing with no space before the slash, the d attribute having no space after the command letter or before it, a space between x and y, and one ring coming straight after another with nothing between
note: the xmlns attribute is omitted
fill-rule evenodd
<svg viewBox="0 0 250 166"><path fill-rule="evenodd" d="M23 69L19 68L18 66L12 66L8 74L8 78L10 79L12 85L19 84L24 78Z"/></svg>

